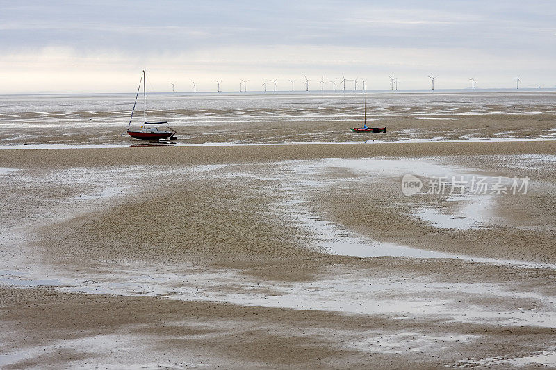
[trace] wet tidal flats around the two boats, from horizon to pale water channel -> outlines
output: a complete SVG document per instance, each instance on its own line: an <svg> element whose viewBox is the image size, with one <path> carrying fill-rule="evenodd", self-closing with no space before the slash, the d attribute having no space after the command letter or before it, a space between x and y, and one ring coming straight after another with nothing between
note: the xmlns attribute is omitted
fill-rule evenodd
<svg viewBox="0 0 556 370"><path fill-rule="evenodd" d="M133 96L52 97L0 110L0 144L106 144L122 141ZM469 140L556 137L554 92L371 94L361 137L363 94L153 96L147 117L168 121L181 142L279 144L363 140ZM30 108L31 107L31 108ZM33 109L33 111L29 111ZM41 110L41 111L37 111ZM131 127L140 124L134 120Z"/></svg>

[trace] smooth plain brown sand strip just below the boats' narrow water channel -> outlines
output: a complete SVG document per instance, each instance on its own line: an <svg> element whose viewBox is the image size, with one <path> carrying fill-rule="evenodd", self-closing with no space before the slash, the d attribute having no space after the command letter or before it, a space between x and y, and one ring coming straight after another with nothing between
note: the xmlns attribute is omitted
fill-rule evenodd
<svg viewBox="0 0 556 370"><path fill-rule="evenodd" d="M283 144L98 149L1 150L2 167L63 168L79 166L208 165L282 160L366 157L443 157L468 155L553 154L556 141L423 142L361 144ZM61 154L60 154L61 153Z"/></svg>

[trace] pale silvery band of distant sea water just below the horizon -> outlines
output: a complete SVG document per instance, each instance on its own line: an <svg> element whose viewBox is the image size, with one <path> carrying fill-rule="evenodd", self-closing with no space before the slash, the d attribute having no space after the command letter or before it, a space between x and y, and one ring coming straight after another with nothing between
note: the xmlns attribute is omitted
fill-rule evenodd
<svg viewBox="0 0 556 370"><path fill-rule="evenodd" d="M150 92L147 93L147 110L187 110L204 114L217 112L256 112L257 110L299 110L304 108L343 108L363 106L362 90L324 92ZM520 112L522 107L553 106L556 108L556 90L368 90L368 112L373 108L387 109L404 105L506 106L504 112ZM22 115L48 116L56 119L87 113L129 114L136 94L25 94L0 95L0 124L24 121ZM470 107L471 108L471 107ZM136 110L142 112L142 94L138 96Z"/></svg>

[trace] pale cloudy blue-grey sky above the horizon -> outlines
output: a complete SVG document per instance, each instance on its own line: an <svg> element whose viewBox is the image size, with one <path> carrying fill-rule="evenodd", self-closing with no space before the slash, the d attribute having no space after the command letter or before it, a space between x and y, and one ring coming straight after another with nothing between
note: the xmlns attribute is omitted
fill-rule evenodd
<svg viewBox="0 0 556 370"><path fill-rule="evenodd" d="M554 87L556 1L0 0L0 50L0 94Z"/></svg>

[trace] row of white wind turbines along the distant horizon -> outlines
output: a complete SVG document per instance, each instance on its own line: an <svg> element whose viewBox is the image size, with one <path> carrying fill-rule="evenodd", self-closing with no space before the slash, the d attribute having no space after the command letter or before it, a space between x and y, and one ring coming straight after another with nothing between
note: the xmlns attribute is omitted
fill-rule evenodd
<svg viewBox="0 0 556 370"><path fill-rule="evenodd" d="M303 83L303 85L305 86L305 91L309 91L309 82L311 81L315 81L315 80L310 80L309 78L307 78L306 75L303 75L305 78L305 81ZM438 76L427 76L428 78L431 79L431 84L432 84L432 88L431 90L434 90L434 80L438 77ZM393 78L392 76L389 76L390 78L390 90L398 90L398 82L400 82L400 80L398 80L398 78ZM519 77L513 77L512 79L516 80L516 88L519 89L519 83L521 83L521 80L519 79ZM324 91L325 90L325 76L322 76L322 79L320 81L317 82L317 84L320 84L320 91ZM357 80L358 78L354 78L354 79L347 79L345 78L345 76L342 74L342 79L340 81L338 81L338 85L340 85L341 87L343 86L343 91L345 91L345 83L346 82L352 82L354 83L354 90L353 91L357 91ZM250 80L243 80L240 79L240 84L239 84L239 91L240 92L247 92L247 83ZM264 80L263 84L261 85L261 87L263 88L263 92L268 92L268 85L272 86L272 92L276 92L276 81L278 81L278 78L275 78L274 80L268 79L268 80ZM293 79L290 80L288 79L288 81L291 82L291 91L295 90L295 81L297 81L297 79ZM303 80L302 80L303 81ZM365 80L363 80L363 78L361 78L361 81L363 81L363 85L365 86ZM469 81L471 81L471 90L475 90L475 85L477 84L477 81L475 80L475 78L469 78ZM191 80L191 82L193 83L193 92L197 92L197 83L193 80ZM336 91L336 82L337 81L328 81L329 83L332 83L332 91ZM218 92L222 92L220 90L220 83L222 83L222 81L218 81L215 80L215 83L217 84L217 91ZM272 83L272 84L271 84ZM174 87L176 85L175 82L170 82L170 85L172 85L172 92L174 92Z"/></svg>

